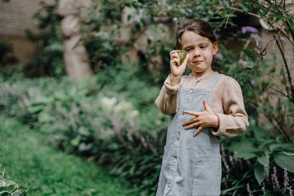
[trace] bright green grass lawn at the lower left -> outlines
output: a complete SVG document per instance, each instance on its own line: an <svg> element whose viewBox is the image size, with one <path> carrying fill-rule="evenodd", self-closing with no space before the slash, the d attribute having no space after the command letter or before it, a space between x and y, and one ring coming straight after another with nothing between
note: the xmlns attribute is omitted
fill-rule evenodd
<svg viewBox="0 0 294 196"><path fill-rule="evenodd" d="M28 196L139 195L93 162L54 149L48 136L0 115L0 174Z"/></svg>

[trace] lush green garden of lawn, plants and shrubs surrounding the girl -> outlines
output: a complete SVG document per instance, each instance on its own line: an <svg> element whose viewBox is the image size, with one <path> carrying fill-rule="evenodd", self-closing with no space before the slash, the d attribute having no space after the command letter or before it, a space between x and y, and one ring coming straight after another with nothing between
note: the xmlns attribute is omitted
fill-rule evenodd
<svg viewBox="0 0 294 196"><path fill-rule="evenodd" d="M169 116L154 102L183 18L210 23L213 69L240 84L248 114L245 133L221 137L221 195L293 195L292 1L91 0L72 47L87 54L79 78L58 0L41 5L30 63L0 40L0 196L155 195Z"/></svg>

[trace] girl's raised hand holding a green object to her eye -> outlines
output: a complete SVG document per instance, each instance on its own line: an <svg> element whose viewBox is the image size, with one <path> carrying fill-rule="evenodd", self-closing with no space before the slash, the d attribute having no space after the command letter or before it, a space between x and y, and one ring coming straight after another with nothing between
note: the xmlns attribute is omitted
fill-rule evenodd
<svg viewBox="0 0 294 196"><path fill-rule="evenodd" d="M180 56L178 54L180 50L173 50L170 52L170 71L173 77L179 78L183 75L186 69L187 60L189 55L187 54L185 60L180 64Z"/></svg>

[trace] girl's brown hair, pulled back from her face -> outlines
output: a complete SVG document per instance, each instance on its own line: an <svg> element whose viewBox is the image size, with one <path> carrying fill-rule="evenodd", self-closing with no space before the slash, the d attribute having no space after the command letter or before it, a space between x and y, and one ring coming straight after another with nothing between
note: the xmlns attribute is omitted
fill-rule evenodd
<svg viewBox="0 0 294 196"><path fill-rule="evenodd" d="M197 33L198 35L201 35L202 37L208 38L211 43L216 42L215 34L213 33L212 28L207 22L200 19L184 19L177 27L177 32L175 36L176 49L178 50L182 49L181 38L186 31L191 31Z"/></svg>

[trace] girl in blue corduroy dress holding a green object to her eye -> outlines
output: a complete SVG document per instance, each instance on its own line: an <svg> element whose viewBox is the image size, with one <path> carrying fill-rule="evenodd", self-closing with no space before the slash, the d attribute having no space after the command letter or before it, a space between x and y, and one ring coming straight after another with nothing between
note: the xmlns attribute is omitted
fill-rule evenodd
<svg viewBox="0 0 294 196"><path fill-rule="evenodd" d="M211 69L218 51L208 23L185 19L177 28L170 52L171 74L155 104L170 115L156 196L221 194L219 136L233 137L248 127L242 91L233 78ZM186 65L192 70L182 76Z"/></svg>

